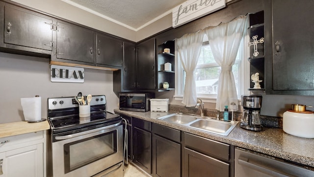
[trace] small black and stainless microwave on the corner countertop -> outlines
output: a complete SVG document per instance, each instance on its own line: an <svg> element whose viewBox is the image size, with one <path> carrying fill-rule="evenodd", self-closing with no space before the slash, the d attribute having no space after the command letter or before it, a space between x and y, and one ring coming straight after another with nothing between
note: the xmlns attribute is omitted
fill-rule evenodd
<svg viewBox="0 0 314 177"><path fill-rule="evenodd" d="M119 93L119 109L127 111L150 111L153 93Z"/></svg>

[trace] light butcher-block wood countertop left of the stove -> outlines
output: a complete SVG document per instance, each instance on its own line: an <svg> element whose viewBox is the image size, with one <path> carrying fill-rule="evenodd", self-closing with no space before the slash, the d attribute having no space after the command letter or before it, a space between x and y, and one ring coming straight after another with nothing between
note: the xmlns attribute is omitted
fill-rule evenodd
<svg viewBox="0 0 314 177"><path fill-rule="evenodd" d="M36 131L50 129L49 122L47 120L36 123L27 123L27 121L18 121L11 123L0 124L0 138L9 137L14 135L21 135L25 133L31 133Z"/></svg>

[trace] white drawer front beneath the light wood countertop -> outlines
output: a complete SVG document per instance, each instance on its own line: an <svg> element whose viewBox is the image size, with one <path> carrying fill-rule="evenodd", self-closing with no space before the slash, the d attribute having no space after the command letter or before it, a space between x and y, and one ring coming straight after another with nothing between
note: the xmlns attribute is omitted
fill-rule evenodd
<svg viewBox="0 0 314 177"><path fill-rule="evenodd" d="M43 131L0 138L0 151L7 147L44 138Z"/></svg>

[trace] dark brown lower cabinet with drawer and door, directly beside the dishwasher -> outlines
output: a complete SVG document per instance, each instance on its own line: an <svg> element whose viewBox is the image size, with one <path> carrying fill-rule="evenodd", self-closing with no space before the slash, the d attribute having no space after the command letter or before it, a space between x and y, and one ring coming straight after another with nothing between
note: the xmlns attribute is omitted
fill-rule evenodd
<svg viewBox="0 0 314 177"><path fill-rule="evenodd" d="M184 132L183 177L234 177L234 146Z"/></svg>

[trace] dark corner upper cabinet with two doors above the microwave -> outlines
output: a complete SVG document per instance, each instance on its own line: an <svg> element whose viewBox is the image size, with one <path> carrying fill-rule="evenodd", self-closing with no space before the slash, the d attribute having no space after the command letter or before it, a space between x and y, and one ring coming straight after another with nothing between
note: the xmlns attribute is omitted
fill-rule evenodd
<svg viewBox="0 0 314 177"><path fill-rule="evenodd" d="M123 69L113 72L113 91L155 91L155 38L124 43Z"/></svg>

